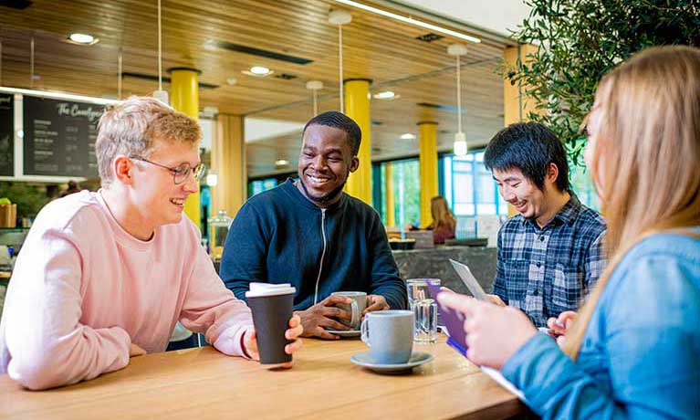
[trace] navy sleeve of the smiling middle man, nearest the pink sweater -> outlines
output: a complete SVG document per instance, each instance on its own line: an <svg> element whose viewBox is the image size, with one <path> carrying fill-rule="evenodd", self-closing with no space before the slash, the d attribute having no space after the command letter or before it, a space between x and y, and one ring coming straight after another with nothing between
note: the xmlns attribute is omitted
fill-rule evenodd
<svg viewBox="0 0 700 420"><path fill-rule="evenodd" d="M250 201L235 215L226 236L219 275L235 297L246 300L253 281L267 281L265 220Z"/></svg>

